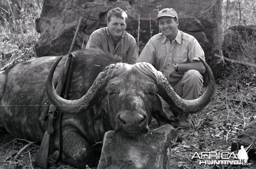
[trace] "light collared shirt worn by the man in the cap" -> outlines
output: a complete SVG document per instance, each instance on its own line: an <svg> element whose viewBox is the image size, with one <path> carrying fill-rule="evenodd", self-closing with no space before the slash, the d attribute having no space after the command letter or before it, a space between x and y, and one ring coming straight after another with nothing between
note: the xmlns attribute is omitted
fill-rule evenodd
<svg viewBox="0 0 256 169"><path fill-rule="evenodd" d="M172 64L192 63L193 60L199 60L198 57L205 60L204 51L197 39L178 30L172 42L162 33L149 39L136 62L150 63L157 71L164 74L170 84L175 84L185 72L179 70L176 72Z"/></svg>

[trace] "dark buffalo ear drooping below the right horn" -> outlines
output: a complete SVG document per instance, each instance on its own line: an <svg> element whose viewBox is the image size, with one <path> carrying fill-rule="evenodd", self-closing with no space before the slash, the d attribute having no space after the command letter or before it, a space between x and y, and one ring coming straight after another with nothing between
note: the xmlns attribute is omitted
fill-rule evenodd
<svg viewBox="0 0 256 169"><path fill-rule="evenodd" d="M157 94L155 94L154 96L154 102L153 102L152 108L153 108L152 116L157 120L157 123L159 125L171 124L171 119L169 119L168 116L166 115L162 106L162 102Z"/></svg>

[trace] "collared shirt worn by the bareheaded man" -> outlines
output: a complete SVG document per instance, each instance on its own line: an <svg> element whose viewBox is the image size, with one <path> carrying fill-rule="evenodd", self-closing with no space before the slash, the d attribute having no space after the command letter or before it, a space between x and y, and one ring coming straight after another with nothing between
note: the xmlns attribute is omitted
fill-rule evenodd
<svg viewBox="0 0 256 169"><path fill-rule="evenodd" d="M122 58L123 63L134 64L138 58L136 41L126 31L115 46L107 27L97 29L92 32L85 49L89 49L90 47L100 48L104 52L118 55Z"/></svg>

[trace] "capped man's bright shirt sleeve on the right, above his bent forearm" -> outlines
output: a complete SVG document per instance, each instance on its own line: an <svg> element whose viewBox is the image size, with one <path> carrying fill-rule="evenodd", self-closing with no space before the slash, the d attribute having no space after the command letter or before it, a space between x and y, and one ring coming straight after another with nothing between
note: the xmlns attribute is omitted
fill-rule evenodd
<svg viewBox="0 0 256 169"><path fill-rule="evenodd" d="M205 60L204 50L198 43L197 39L193 38L189 43L188 48L188 57L191 62L193 62L193 60L199 60L198 57L201 57Z"/></svg>

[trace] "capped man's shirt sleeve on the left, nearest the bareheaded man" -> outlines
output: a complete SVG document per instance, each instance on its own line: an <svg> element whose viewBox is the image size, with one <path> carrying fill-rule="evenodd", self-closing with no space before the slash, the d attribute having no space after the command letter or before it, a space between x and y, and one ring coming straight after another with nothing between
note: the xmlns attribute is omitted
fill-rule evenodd
<svg viewBox="0 0 256 169"><path fill-rule="evenodd" d="M145 45L140 56L138 57L136 63L138 63L138 62L147 62L147 63L150 63L151 65L155 66L156 50L155 50L155 46L153 45L151 39L149 39L148 43Z"/></svg>

